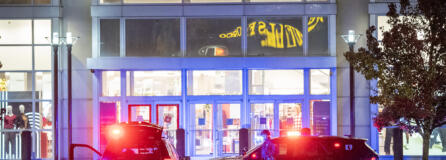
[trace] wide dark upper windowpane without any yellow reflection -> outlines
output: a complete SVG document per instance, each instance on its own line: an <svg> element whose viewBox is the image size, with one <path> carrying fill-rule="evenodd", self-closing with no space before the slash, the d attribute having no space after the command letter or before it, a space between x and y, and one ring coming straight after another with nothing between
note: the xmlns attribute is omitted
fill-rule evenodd
<svg viewBox="0 0 446 160"><path fill-rule="evenodd" d="M126 20L126 56L180 56L179 19Z"/></svg>

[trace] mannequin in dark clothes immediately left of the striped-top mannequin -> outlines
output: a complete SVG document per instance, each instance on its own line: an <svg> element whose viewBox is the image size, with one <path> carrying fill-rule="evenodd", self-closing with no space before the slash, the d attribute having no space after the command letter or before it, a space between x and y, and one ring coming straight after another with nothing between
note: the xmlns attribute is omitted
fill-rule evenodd
<svg viewBox="0 0 446 160"><path fill-rule="evenodd" d="M29 129L29 119L25 115L25 105L21 104L19 106L20 115L17 118L17 128L19 129ZM22 159L31 159L31 131L22 130Z"/></svg>

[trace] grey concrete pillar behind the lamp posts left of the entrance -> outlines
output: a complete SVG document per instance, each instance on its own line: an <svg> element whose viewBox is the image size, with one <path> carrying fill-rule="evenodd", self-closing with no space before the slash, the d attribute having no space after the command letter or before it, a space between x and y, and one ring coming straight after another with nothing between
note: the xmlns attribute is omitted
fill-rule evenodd
<svg viewBox="0 0 446 160"><path fill-rule="evenodd" d="M62 0L63 17L61 21L61 36L66 32L72 32L73 36L80 39L72 49L72 135L73 143L93 144L93 107L92 107L92 73L86 68L86 60L91 57L91 13L90 0ZM60 158L68 158L68 110L67 110L67 50L61 51L61 66L63 67L62 79L62 103L60 110L62 119L59 120L63 132L60 135ZM87 149L76 149L76 159L93 159L93 152Z"/></svg>

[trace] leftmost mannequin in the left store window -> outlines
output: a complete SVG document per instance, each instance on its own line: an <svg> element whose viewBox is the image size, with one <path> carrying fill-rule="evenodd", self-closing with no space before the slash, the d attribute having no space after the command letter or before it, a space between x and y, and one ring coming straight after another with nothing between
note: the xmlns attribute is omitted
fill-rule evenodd
<svg viewBox="0 0 446 160"><path fill-rule="evenodd" d="M16 115L12 113L12 106L6 107L6 116L5 116L5 123L4 123L4 129L14 129L16 121ZM5 132L5 153L10 154L10 157L14 157L15 154L15 135L14 132ZM9 143L11 143L11 152L9 152Z"/></svg>

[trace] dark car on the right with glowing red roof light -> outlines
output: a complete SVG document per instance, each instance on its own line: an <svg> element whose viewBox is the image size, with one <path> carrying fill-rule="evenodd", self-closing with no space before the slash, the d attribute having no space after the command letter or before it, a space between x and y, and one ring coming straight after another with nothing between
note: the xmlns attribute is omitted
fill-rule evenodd
<svg viewBox="0 0 446 160"><path fill-rule="evenodd" d="M335 136L290 136L273 138L276 160L377 160L365 139ZM262 160L262 145L256 146L239 157L221 158L225 160Z"/></svg>

